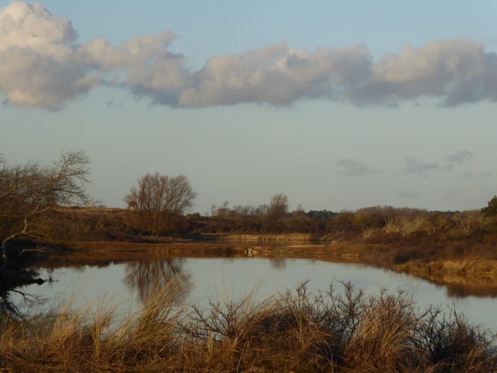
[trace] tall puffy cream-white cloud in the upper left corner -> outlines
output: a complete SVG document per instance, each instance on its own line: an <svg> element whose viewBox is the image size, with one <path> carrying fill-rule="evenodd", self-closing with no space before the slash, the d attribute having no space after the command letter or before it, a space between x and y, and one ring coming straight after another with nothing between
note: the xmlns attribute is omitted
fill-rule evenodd
<svg viewBox="0 0 497 373"><path fill-rule="evenodd" d="M15 105L57 109L98 84L72 46L76 31L40 3L0 8L0 92Z"/></svg>

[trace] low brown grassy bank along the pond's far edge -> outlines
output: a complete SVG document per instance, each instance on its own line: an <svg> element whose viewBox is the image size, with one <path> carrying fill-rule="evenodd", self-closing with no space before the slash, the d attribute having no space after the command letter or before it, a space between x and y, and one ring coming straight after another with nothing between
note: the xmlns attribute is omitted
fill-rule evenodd
<svg viewBox="0 0 497 373"><path fill-rule="evenodd" d="M224 242L226 241L226 242ZM238 240L237 240L238 241ZM340 258L358 264L382 264L391 270L406 274L424 275L471 275L497 276L497 260L479 256L464 256L447 260L409 260L402 263L396 261L396 255L402 248L393 248L381 244L358 243L309 243L308 245L289 244L281 246L264 245L264 241L247 241L231 243L223 239L223 243L208 241L185 243L131 243L106 241L75 241L68 247L77 252L148 252L183 255L231 255L253 257L287 257L287 258ZM266 242L269 240L266 240Z"/></svg>

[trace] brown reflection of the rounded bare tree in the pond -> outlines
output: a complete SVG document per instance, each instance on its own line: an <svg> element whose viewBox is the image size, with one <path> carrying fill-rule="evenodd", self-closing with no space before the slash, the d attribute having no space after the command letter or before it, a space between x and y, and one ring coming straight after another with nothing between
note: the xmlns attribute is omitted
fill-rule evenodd
<svg viewBox="0 0 497 373"><path fill-rule="evenodd" d="M182 270L183 259L147 259L126 263L126 277L123 282L131 290L137 291L140 301L145 301L154 290L162 289L172 279L176 280L179 291L175 301L184 299L191 289L190 274Z"/></svg>

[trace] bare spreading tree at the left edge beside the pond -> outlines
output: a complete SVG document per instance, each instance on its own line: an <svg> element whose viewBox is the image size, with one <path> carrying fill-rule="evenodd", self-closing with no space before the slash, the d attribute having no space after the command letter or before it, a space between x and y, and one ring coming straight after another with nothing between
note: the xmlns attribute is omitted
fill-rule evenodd
<svg viewBox="0 0 497 373"><path fill-rule="evenodd" d="M51 166L38 163L0 168L0 239L2 261L6 243L16 237L50 239L43 217L57 206L86 205L90 198L89 158L81 152L63 152Z"/></svg>

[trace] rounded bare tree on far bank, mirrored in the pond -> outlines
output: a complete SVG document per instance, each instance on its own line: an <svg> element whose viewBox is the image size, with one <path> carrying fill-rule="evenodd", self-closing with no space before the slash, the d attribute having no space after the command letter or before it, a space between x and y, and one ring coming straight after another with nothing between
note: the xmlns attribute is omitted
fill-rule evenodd
<svg viewBox="0 0 497 373"><path fill-rule="evenodd" d="M173 217L188 211L196 196L186 176L155 173L138 179L138 187L131 187L124 201L135 211L142 228L156 236L170 228Z"/></svg>

